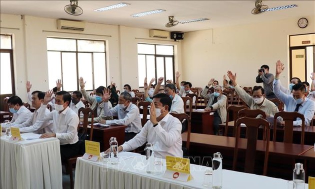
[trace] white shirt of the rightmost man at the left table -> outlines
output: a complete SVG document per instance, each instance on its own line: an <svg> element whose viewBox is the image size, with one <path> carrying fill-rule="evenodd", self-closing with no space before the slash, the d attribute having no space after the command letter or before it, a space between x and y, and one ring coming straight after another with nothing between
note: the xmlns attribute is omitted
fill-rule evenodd
<svg viewBox="0 0 315 189"><path fill-rule="evenodd" d="M40 120L52 120L52 131L56 133L56 138L60 140L60 144L73 144L78 141L77 125L79 118L69 106L67 106L61 113L53 110L45 114L44 108L46 104L41 104L38 117Z"/></svg>

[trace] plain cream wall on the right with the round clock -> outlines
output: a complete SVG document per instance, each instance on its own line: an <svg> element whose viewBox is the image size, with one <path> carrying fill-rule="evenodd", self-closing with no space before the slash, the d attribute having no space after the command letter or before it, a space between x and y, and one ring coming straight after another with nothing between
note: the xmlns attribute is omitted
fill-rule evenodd
<svg viewBox="0 0 315 189"><path fill-rule="evenodd" d="M288 35L315 32L314 17L305 16L309 23L304 29L297 18L272 22L235 25L186 32L181 43L182 78L193 86L204 87L212 77L222 84L227 70L236 72L241 86L256 85L257 69L262 64L275 72L275 62L285 64L281 82L288 83Z"/></svg>

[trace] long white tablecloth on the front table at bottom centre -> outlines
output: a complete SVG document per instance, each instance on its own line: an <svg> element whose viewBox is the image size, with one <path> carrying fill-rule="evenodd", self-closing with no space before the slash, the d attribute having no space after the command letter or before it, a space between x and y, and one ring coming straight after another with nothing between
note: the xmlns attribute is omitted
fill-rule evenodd
<svg viewBox="0 0 315 189"><path fill-rule="evenodd" d="M145 168L140 168L143 164L145 164L143 155L120 159L118 165L77 158L74 188L207 188L202 185L202 182L204 170L209 167L190 164L193 179L183 182L162 177L162 174L146 173ZM165 170L165 160L163 170ZM284 179L225 169L222 174L223 189L287 188L287 180ZM307 184L305 184L305 188L307 188Z"/></svg>

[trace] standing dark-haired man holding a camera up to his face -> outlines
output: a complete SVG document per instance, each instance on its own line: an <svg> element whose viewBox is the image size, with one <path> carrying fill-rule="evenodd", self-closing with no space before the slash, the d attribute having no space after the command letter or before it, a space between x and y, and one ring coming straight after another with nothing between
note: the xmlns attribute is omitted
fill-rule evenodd
<svg viewBox="0 0 315 189"><path fill-rule="evenodd" d="M273 93L273 79L273 74L269 73L269 66L261 65L260 69L258 69L258 75L256 76L256 83L263 83L266 98L276 98Z"/></svg>

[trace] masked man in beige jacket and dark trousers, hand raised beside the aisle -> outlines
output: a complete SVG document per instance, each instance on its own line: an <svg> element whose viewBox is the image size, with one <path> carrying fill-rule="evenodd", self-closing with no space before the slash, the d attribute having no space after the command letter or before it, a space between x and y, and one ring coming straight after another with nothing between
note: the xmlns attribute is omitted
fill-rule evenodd
<svg viewBox="0 0 315 189"><path fill-rule="evenodd" d="M208 94L208 88L210 85L210 82L213 82L213 78L210 79L208 85L206 85L202 92L201 96L208 100L208 103L204 110L215 110L214 111L214 119L213 119L213 133L215 135L218 135L219 130L219 124L225 122L226 120L226 96L222 94L223 87L220 85L216 85L214 87L214 92L211 94Z"/></svg>

